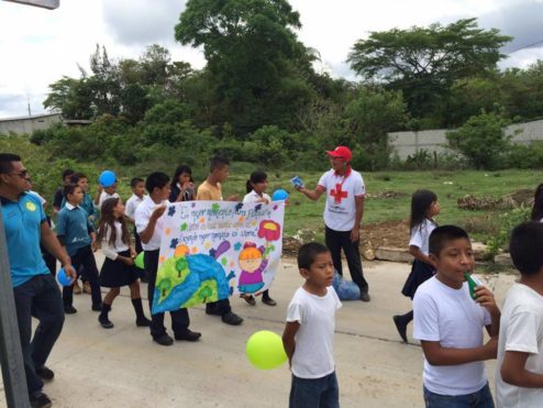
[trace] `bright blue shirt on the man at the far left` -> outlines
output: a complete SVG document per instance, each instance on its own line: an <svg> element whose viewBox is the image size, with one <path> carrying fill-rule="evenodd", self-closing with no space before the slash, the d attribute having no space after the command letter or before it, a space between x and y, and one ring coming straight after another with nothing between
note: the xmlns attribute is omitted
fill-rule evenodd
<svg viewBox="0 0 543 408"><path fill-rule="evenodd" d="M23 192L18 201L0 197L8 243L11 283L21 286L36 275L49 274L40 250L42 222L47 222L40 199Z"/></svg>

